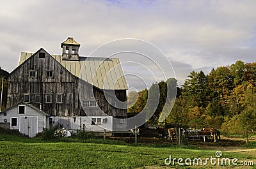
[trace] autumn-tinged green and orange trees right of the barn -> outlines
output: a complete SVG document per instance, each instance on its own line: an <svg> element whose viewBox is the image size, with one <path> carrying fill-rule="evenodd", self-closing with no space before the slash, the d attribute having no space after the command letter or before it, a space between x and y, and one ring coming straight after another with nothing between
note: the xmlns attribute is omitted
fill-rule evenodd
<svg viewBox="0 0 256 169"><path fill-rule="evenodd" d="M159 86L160 98L155 114L148 121L161 119L168 102L168 80L153 84ZM150 89L129 93L127 112L141 112L147 103L148 91ZM175 101L169 98L173 105L166 117L167 123L184 128L218 128L227 134L243 134L245 129L256 128L256 62L237 61L212 69L209 74L192 71L175 94ZM132 97L138 98L135 104L129 101Z"/></svg>

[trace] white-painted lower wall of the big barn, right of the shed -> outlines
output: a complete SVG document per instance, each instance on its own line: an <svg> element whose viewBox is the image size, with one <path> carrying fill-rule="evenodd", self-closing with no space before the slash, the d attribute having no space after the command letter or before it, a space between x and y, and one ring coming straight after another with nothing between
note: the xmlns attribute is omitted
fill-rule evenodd
<svg viewBox="0 0 256 169"><path fill-rule="evenodd" d="M113 117L111 116L77 116L77 117L50 117L52 126L61 126L69 130L84 129L86 131L113 131ZM96 119L97 124L92 124L92 119ZM98 122L97 122L98 120Z"/></svg>

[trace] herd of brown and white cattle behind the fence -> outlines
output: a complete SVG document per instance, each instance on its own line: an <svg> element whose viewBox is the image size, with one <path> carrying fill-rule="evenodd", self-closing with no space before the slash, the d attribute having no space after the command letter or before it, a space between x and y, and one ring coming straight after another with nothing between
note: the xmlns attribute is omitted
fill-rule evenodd
<svg viewBox="0 0 256 169"><path fill-rule="evenodd" d="M177 138L177 135L180 135L183 138L187 138L188 140L210 140L213 142L217 142L220 140L220 130L214 128L203 128L203 129L184 129L180 128L180 132L178 133L175 128L156 128L159 133L159 139L164 138L166 133L168 134L168 139L173 140L173 138ZM166 132L167 131L167 132Z"/></svg>

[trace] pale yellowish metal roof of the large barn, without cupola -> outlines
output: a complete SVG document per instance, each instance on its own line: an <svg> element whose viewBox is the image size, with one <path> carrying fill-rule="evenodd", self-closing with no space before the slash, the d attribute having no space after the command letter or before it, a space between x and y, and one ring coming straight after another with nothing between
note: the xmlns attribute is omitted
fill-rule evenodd
<svg viewBox="0 0 256 169"><path fill-rule="evenodd" d="M33 53L22 52L19 65ZM79 61L62 60L61 55L51 55L72 75L104 90L127 90L127 82L118 58L79 57Z"/></svg>

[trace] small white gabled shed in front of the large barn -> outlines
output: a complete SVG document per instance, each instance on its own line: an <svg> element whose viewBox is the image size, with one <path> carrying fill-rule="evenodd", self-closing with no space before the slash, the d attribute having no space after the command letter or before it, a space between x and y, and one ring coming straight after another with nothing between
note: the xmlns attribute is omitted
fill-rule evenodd
<svg viewBox="0 0 256 169"><path fill-rule="evenodd" d="M0 113L0 127L19 130L29 137L42 133L44 128L49 128L50 115L42 110L20 102Z"/></svg>

